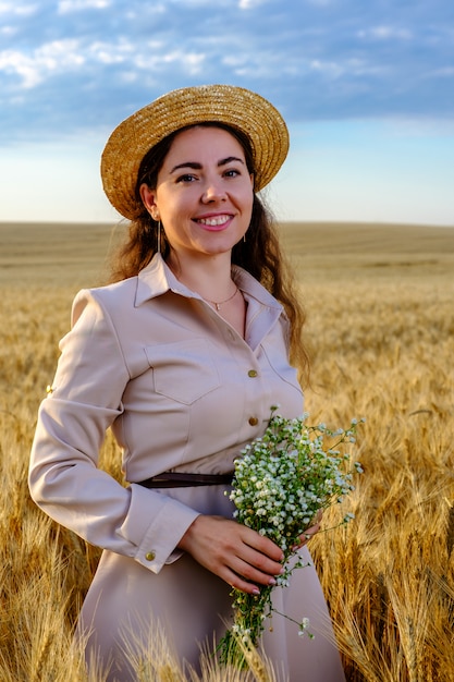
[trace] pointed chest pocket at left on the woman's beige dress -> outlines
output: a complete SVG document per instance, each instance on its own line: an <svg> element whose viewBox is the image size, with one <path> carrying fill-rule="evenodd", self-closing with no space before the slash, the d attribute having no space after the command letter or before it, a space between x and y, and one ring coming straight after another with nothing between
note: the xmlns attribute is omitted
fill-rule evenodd
<svg viewBox="0 0 454 682"><path fill-rule="evenodd" d="M191 405L221 385L205 339L149 345L145 353L160 395Z"/></svg>

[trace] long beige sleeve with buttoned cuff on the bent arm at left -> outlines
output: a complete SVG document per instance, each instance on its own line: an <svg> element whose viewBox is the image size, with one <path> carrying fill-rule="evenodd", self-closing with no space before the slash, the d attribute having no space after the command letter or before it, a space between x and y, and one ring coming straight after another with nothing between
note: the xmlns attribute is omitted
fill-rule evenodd
<svg viewBox="0 0 454 682"><path fill-rule="evenodd" d="M98 468L106 429L123 412L131 370L99 301L81 294L74 318L60 344L52 392L39 409L30 494L89 543L158 573L198 512L139 485L125 488Z"/></svg>

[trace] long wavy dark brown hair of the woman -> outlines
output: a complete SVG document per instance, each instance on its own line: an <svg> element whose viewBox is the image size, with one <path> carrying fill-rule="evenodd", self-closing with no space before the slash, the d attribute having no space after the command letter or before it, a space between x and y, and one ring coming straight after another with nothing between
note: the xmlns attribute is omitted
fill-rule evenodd
<svg viewBox="0 0 454 682"><path fill-rule="evenodd" d="M233 135L244 149L249 173L254 173L253 154L244 133L217 122L198 125L221 127ZM137 215L130 222L127 240L113 254L110 282L134 277L145 268L158 251L158 234L161 239L162 257L165 259L170 253L170 244L163 230L158 231L159 223L151 218L142 203L139 188L143 183L150 188L156 187L165 156L173 139L182 130L175 131L152 147L140 163L136 184ZM246 240L241 240L234 245L232 264L247 270L284 306L291 324L290 360L298 368L302 380L307 381L309 358L302 338L306 314L296 293L295 277L280 244L277 221L257 194L254 195L253 215Z"/></svg>

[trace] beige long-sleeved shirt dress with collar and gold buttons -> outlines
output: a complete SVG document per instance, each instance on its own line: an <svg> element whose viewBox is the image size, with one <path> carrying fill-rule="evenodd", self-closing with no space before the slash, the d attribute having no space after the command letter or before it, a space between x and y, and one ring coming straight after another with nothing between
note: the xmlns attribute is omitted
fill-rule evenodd
<svg viewBox="0 0 454 682"><path fill-rule="evenodd" d="M149 490L138 482L170 470L230 472L262 434L271 405L287 417L303 412L281 305L244 270L233 278L247 303L245 339L159 255L138 277L81 292L40 406L30 491L50 516L105 549L79 633L89 634L87 661L110 666L109 682L135 680L130 654L157 656L162 632L197 669L200 644L212 645L231 618L230 587L175 549L198 514L232 515L225 486ZM97 466L109 426L127 486ZM305 640L273 617L263 648L280 679L343 682L315 569L274 592L275 608L308 617L316 633Z"/></svg>

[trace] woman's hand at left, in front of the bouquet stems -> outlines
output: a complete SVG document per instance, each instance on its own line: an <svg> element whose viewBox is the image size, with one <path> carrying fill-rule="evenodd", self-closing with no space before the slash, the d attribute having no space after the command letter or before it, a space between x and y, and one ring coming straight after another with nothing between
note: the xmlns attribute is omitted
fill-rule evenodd
<svg viewBox="0 0 454 682"><path fill-rule="evenodd" d="M259 594L258 585L274 585L283 572L282 549L247 526L200 514L179 544L198 563L232 587Z"/></svg>

